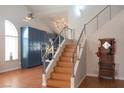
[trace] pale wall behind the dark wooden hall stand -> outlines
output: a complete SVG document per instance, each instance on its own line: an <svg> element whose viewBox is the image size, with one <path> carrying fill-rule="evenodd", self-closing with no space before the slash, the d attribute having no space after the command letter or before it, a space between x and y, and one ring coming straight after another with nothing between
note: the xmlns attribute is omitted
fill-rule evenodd
<svg viewBox="0 0 124 93"><path fill-rule="evenodd" d="M87 74L98 76L98 57L96 52L98 49L99 38L115 38L116 41L116 52L115 52L115 66L116 66L116 77L118 79L124 79L124 6L113 6L112 10L114 17L111 21L105 22L106 24L96 30L95 21L87 27ZM119 14L118 14L118 13ZM116 15L115 15L116 14ZM107 17L107 16L106 16ZM105 18L106 18L105 17ZM105 18L100 20L104 20Z"/></svg>

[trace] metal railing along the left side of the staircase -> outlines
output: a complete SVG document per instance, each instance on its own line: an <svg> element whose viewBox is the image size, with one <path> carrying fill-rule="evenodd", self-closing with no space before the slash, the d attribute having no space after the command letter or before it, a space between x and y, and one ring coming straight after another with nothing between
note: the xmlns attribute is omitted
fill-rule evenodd
<svg viewBox="0 0 124 93"><path fill-rule="evenodd" d="M46 53L42 56L42 62L43 62L43 74L46 74L46 69L49 64L46 64L46 60L48 59L50 53L52 53L52 58L54 59L54 55L57 51L57 49L61 46L61 43L65 40L68 39L67 32L71 31L71 28L68 28L68 26L64 27L62 31L57 35L55 40L52 42L51 46L46 50Z"/></svg>

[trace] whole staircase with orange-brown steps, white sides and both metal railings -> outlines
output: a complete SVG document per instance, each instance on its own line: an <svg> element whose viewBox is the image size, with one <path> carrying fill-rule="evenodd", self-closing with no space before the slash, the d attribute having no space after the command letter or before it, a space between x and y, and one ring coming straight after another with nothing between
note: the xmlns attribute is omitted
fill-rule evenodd
<svg viewBox="0 0 124 93"><path fill-rule="evenodd" d="M52 88L75 88L79 87L81 84L82 80L86 76L86 59L87 62L89 60L89 63L91 63L92 59L86 58L86 55L88 53L86 52L86 40L88 37L90 37L90 40L95 40L93 34L91 34L91 31L88 31L86 29L86 26L88 26L90 23L92 23L93 20L97 19L95 22L95 27L94 24L93 29L89 30L98 30L99 29L99 15L103 13L104 10L109 9L109 20L106 20L104 24L110 20L111 18L111 6L107 5L103 10L101 10L95 17L93 17L90 21L88 21L86 24L84 24L84 27L80 33L80 36L78 40L75 40L75 33L73 29L70 29L68 27L63 28L63 30L59 33L57 38L54 40L54 43L56 43L57 39L59 39L59 44L58 44L58 50L57 52L53 52L54 57L53 60L50 62L49 66L46 68L46 56L48 53L42 57L43 59L43 74L42 74L42 86L43 87L52 87ZM104 25L102 24L102 25ZM117 24L118 25L118 24ZM100 26L101 27L101 26ZM94 29L95 28L95 29ZM110 29L110 28L109 28ZM68 37L66 34L67 31L71 31L71 37ZM87 31L87 33L86 33ZM90 33L88 33L90 32ZM88 35L89 34L89 35ZM96 34L94 34L96 35ZM97 34L98 35L98 34ZM61 38L63 37L62 43L60 42ZM98 37L96 37L98 39ZM76 42L68 42L68 40L72 40ZM88 40L88 42L90 41ZM95 43L95 42L93 42ZM91 49L94 50L94 47L92 47L92 42L90 42L88 45L91 46ZM66 45L65 45L66 44ZM97 45L97 43L96 43ZM54 46L54 44L52 44ZM64 47L65 46L65 47ZM63 49L64 48L64 49ZM51 48L50 48L51 49ZM95 52L93 52L95 53ZM91 54L90 54L91 55ZM94 57L94 56L93 56ZM95 60L95 59L94 59ZM88 63L87 63L88 64ZM89 69L89 67L87 67ZM92 71L92 70L91 70Z"/></svg>

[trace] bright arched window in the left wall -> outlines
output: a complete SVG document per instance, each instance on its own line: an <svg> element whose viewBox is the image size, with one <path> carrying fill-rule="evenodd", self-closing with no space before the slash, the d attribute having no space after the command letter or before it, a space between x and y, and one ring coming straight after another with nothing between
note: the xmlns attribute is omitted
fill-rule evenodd
<svg viewBox="0 0 124 93"><path fill-rule="evenodd" d="M5 61L18 59L18 32L13 23L5 20Z"/></svg>

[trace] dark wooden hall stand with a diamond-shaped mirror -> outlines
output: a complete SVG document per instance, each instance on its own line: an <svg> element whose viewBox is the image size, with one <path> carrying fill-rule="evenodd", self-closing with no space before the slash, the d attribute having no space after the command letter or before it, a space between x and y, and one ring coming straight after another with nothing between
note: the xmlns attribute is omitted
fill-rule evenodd
<svg viewBox="0 0 124 93"><path fill-rule="evenodd" d="M99 39L100 47L97 56L99 57L99 78L114 79L115 77L115 39Z"/></svg>

